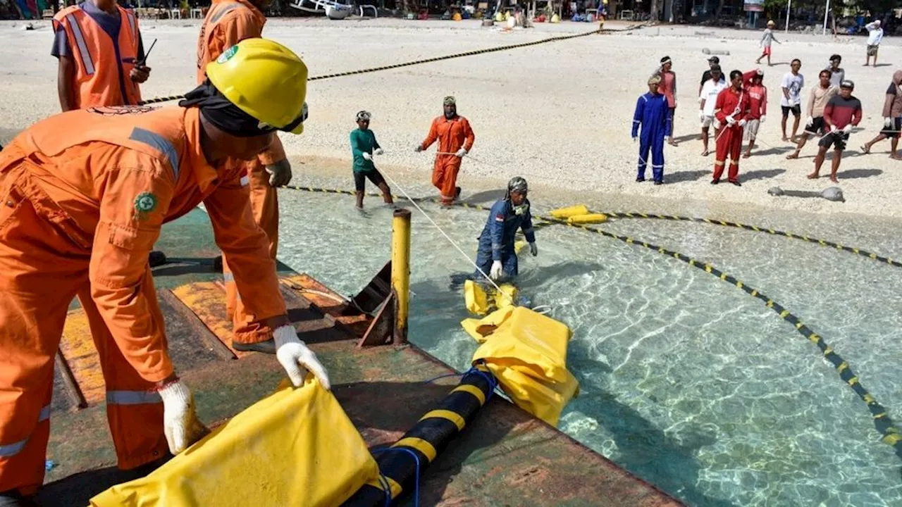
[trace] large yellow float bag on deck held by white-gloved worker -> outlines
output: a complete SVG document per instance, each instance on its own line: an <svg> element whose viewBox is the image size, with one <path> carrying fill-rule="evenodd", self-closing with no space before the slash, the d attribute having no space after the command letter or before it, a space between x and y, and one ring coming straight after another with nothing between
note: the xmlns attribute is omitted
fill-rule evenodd
<svg viewBox="0 0 902 507"><path fill-rule="evenodd" d="M378 481L379 467L335 396L312 375L288 381L146 477L92 507L332 506Z"/></svg>

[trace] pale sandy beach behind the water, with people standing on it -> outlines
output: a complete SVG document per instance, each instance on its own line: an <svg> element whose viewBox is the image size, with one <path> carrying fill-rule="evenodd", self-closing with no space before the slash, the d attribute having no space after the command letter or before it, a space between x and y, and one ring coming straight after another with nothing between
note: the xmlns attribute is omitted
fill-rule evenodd
<svg viewBox="0 0 902 507"><path fill-rule="evenodd" d="M59 111L50 23L33 23L34 30L27 31L25 24L0 23L0 142ZM148 62L152 74L143 85L144 98L193 88L199 24L142 20L145 47L158 40ZM478 21L272 19L264 34L298 51L313 77L588 32L596 26L540 23L534 29L502 32ZM622 29L626 23L606 27ZM626 205L621 208L635 202L633 210L670 203L669 209L770 207L902 217L902 161L888 158L888 141L877 144L871 154L859 150L882 127L883 98L902 57L899 41L884 39L881 66L875 69L862 67L863 37L777 36L784 43L774 45L775 65L763 67L769 115L761 125L759 148L741 161L741 188L708 184L713 154L702 157L702 144L696 140L696 97L707 69L703 50L729 51L720 55L725 71L754 69L760 32L667 25L311 82L306 132L282 137L297 162L292 183L304 185L346 172L346 187L351 187L348 133L361 109L373 113L371 127L386 152L377 159L382 167L399 181L428 182L435 148L427 153L413 148L440 114L442 98L454 95L476 136L472 160L464 161L459 179L465 192L491 188L520 174L537 187L594 192L601 201L610 198ZM802 60L802 93L807 97L833 53L842 55L846 77L855 81L854 95L864 107L861 128L851 135L839 173L847 200L771 197L771 187L819 193L833 186L826 177L805 179L812 170L815 142L809 141L799 160L787 161L792 145L780 141L779 130L779 83L789 60ZM664 55L674 60L677 75L675 137L680 143L665 150L667 184L653 186L634 181L637 149L630 124L636 98L647 90L645 80ZM804 117L799 130L803 127Z"/></svg>

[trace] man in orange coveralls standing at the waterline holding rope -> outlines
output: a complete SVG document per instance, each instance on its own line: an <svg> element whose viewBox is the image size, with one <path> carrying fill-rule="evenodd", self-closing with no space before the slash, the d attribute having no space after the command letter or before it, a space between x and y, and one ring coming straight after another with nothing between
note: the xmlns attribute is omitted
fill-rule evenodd
<svg viewBox="0 0 902 507"><path fill-rule="evenodd" d="M445 97L445 115L432 120L426 140L417 145L416 151L426 150L436 139L438 152L432 170L432 185L441 194L442 204L447 206L460 197L457 171L460 171L461 158L473 148L475 140L470 122L464 116L457 115L455 97Z"/></svg>

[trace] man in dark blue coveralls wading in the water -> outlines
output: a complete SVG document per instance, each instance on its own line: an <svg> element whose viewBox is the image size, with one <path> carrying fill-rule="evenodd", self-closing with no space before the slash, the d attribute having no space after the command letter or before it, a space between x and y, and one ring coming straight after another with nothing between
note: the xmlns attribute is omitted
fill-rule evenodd
<svg viewBox="0 0 902 507"><path fill-rule="evenodd" d="M499 280L503 276L517 276L517 253L513 247L517 229L523 229L523 235L526 235L529 243L529 252L533 256L538 254L526 193L526 180L520 176L511 178L504 198L492 206L483 234L479 235L476 265L483 273L489 273L492 280ZM480 272L474 273L477 280L481 276Z"/></svg>

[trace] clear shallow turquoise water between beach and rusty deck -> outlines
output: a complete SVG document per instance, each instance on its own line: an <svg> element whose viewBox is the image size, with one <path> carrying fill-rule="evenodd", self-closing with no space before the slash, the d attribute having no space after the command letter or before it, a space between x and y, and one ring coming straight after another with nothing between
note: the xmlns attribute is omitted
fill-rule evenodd
<svg viewBox="0 0 902 507"><path fill-rule="evenodd" d="M347 196L283 191L281 200L280 258L295 270L350 295L389 259L391 210L378 199L369 198L368 217ZM484 212L425 207L474 254ZM463 370L476 344L459 326L468 316L448 275L472 266L414 213L411 341ZM902 257L902 226L760 220ZM902 422L902 269L720 226L602 227L767 293L824 336ZM520 289L573 329L568 366L581 384L560 429L692 505L902 505L902 460L833 366L773 310L657 252L559 226L537 236L538 257L521 257Z"/></svg>

